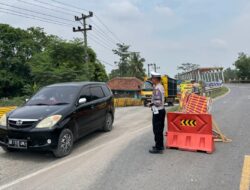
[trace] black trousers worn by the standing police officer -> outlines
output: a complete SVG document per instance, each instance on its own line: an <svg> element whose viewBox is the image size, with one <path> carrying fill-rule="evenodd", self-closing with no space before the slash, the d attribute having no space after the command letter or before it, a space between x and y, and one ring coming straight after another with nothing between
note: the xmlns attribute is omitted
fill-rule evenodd
<svg viewBox="0 0 250 190"><path fill-rule="evenodd" d="M155 147L162 148L163 144L163 131L165 126L166 110L159 110L159 114L153 114L153 131L155 136Z"/></svg>

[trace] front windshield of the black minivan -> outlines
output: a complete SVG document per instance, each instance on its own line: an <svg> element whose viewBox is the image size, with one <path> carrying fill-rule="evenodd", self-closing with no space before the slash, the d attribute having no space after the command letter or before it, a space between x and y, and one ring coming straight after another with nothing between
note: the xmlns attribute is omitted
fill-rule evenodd
<svg viewBox="0 0 250 190"><path fill-rule="evenodd" d="M27 105L65 105L74 102L78 88L74 86L45 87L37 92Z"/></svg>

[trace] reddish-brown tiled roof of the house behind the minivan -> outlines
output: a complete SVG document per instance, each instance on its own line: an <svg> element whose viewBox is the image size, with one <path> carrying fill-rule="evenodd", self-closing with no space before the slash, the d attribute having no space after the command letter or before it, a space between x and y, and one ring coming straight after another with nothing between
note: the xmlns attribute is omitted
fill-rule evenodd
<svg viewBox="0 0 250 190"><path fill-rule="evenodd" d="M115 77L108 81L111 90L140 90L143 81L136 77Z"/></svg>

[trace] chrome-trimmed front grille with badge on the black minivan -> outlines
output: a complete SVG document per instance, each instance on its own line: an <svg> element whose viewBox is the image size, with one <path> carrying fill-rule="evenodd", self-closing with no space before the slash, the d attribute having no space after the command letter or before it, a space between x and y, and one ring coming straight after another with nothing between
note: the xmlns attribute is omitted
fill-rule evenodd
<svg viewBox="0 0 250 190"><path fill-rule="evenodd" d="M37 123L37 119L8 119L8 125L13 128L30 128Z"/></svg>

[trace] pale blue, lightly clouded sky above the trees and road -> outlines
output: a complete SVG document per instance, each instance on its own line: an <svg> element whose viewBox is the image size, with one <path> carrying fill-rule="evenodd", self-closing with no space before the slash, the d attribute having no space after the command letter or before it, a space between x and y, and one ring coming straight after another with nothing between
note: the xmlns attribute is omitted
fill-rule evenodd
<svg viewBox="0 0 250 190"><path fill-rule="evenodd" d="M119 57L111 50L116 47L115 43L123 42L130 45L130 51L141 53L146 59L145 68L148 63L156 63L160 73L170 76L178 72L177 66L181 63L227 68L232 66L239 52L250 53L249 0L58 1L76 8L53 0L0 0L0 23L20 28L39 26L48 34L72 40L82 34L72 32L72 26L79 26L79 23L68 20L74 21L74 15L88 14L87 10L91 10L94 17L87 22L93 29L88 31L88 44L100 60L114 65ZM60 21L69 25L59 26L6 13L35 15L16 7L67 19ZM113 68L115 66L106 64L108 72Z"/></svg>

